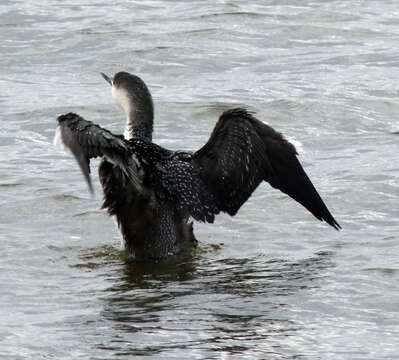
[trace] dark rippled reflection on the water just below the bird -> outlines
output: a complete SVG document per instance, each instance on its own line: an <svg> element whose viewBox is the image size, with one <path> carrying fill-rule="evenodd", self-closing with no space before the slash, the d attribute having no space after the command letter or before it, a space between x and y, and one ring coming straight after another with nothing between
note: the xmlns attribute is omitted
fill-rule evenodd
<svg viewBox="0 0 399 360"><path fill-rule="evenodd" d="M273 353L276 338L283 341L299 328L286 316L288 297L318 287L323 270L333 266L329 252L292 262L198 253L168 263L111 258L118 266L107 274L111 286L101 318L118 336L96 347L118 356L181 355L184 349L209 356Z"/></svg>

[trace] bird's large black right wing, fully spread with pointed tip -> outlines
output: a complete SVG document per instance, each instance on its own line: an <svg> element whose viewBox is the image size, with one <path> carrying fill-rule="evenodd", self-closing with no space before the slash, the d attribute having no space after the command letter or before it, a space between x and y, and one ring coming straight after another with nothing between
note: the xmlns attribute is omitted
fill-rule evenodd
<svg viewBox="0 0 399 360"><path fill-rule="evenodd" d="M340 229L298 161L295 147L245 109L224 112L192 161L199 164L220 211L235 215L264 180Z"/></svg>

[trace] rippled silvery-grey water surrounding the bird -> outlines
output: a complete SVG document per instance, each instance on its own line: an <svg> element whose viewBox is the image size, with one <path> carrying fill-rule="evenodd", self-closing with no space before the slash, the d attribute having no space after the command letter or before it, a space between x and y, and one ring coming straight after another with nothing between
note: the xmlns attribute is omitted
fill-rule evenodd
<svg viewBox="0 0 399 360"><path fill-rule="evenodd" d="M3 1L0 356L395 359L399 351L394 1ZM197 224L197 251L129 263L55 118L121 131L99 75L149 85L155 140L196 149L246 105L295 141L343 227L268 186ZM95 173L96 171L94 171Z"/></svg>

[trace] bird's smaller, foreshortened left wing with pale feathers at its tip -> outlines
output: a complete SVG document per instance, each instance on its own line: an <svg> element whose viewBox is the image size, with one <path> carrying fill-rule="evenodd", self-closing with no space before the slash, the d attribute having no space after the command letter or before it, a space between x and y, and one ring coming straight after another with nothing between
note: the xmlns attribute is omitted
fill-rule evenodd
<svg viewBox="0 0 399 360"><path fill-rule="evenodd" d="M58 136L75 156L91 192L93 186L90 179L90 159L98 156L105 156L119 166L126 177L141 189L136 167L132 166L134 157L123 138L74 113L61 115L57 121Z"/></svg>

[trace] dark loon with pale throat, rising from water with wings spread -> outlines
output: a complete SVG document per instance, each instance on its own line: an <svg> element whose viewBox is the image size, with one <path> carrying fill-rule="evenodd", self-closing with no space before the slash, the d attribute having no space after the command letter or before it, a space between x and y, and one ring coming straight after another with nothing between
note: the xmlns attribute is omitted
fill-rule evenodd
<svg viewBox="0 0 399 360"><path fill-rule="evenodd" d="M90 191L90 159L101 157L102 209L114 217L127 255L165 260L194 248L193 221L234 216L263 181L336 230L298 160L295 146L245 107L224 111L197 151L172 151L152 141L154 105L137 75L112 78L112 98L126 115L123 135L70 112L57 117L56 139L74 155Z"/></svg>

